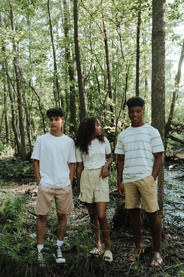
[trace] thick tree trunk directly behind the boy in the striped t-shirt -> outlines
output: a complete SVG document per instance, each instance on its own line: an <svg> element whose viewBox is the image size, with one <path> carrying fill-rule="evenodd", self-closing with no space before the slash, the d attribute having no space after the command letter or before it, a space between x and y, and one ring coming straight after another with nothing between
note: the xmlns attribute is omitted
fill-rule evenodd
<svg viewBox="0 0 184 277"><path fill-rule="evenodd" d="M162 141L165 138L165 0L153 0L152 27L152 80L151 80L151 125L158 129ZM158 204L163 211L164 194L164 153L158 176Z"/></svg>

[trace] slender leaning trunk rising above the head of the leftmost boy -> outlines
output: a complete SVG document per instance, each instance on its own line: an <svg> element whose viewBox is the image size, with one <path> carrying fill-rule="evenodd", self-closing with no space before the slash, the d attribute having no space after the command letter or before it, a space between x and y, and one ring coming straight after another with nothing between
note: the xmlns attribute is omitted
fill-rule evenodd
<svg viewBox="0 0 184 277"><path fill-rule="evenodd" d="M51 40L52 40L52 49L53 49L53 58L54 58L54 79L55 79L55 84L56 84L56 89L57 89L56 106L58 104L59 107L61 107L61 98L60 98L58 72L57 72L57 63L56 63L56 55L55 55L54 32L53 32L53 26L52 26L52 16L51 16L51 10L50 10L50 2L49 2L49 0L47 1L47 7L48 7L48 12L49 12L50 36L51 36ZM55 96L55 94L54 94L54 96Z"/></svg>

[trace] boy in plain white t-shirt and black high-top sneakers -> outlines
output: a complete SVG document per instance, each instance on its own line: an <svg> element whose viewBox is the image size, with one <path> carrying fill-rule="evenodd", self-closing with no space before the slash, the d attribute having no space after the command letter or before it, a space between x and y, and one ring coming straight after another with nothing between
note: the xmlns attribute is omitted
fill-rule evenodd
<svg viewBox="0 0 184 277"><path fill-rule="evenodd" d="M38 214L36 234L38 261L41 265L44 264L43 242L46 220L54 198L58 224L57 245L53 255L57 263L65 263L61 246L66 230L66 214L74 207L71 184L76 163L74 141L61 132L66 118L65 111L60 107L51 108L47 111L47 117L51 131L38 137L31 156L38 185L35 211Z"/></svg>

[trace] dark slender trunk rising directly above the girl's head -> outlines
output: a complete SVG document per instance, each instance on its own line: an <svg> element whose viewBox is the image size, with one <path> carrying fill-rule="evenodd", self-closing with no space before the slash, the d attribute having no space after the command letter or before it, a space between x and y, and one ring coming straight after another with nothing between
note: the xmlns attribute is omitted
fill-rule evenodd
<svg viewBox="0 0 184 277"><path fill-rule="evenodd" d="M80 42L79 42L79 15L78 15L78 0L73 1L73 17L74 17L74 44L75 44L75 60L77 66L77 78L79 88L79 101L80 101L80 118L86 117L86 105L84 96L84 82L82 75L81 57L80 57Z"/></svg>

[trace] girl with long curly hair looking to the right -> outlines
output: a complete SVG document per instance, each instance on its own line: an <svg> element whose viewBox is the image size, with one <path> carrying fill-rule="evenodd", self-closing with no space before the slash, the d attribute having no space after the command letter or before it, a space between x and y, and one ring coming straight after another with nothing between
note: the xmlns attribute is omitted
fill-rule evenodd
<svg viewBox="0 0 184 277"><path fill-rule="evenodd" d="M111 262L113 256L110 251L106 207L109 202L108 167L113 158L110 144L102 133L100 121L95 117L84 118L79 124L76 160L77 196L81 201L86 202L96 242L96 247L89 253L103 254L103 259ZM99 225L105 243L105 252L101 247Z"/></svg>

